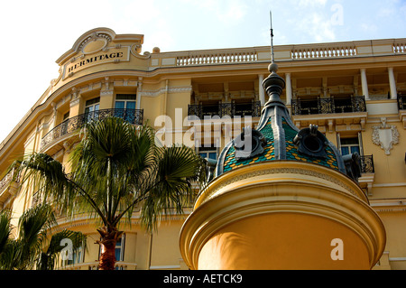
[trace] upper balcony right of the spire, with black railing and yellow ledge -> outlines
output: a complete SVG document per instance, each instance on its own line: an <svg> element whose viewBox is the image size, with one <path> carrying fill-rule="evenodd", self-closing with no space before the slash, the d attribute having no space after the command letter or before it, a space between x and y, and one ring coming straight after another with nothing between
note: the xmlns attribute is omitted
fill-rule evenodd
<svg viewBox="0 0 406 288"><path fill-rule="evenodd" d="M364 96L292 99L291 114L298 128L314 124L331 133L333 126L337 132L364 130L367 117Z"/></svg>

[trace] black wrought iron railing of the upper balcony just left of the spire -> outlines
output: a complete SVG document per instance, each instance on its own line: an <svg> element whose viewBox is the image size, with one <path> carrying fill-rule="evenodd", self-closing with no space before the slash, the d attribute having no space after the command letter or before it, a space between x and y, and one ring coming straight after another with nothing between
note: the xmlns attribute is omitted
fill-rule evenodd
<svg viewBox="0 0 406 288"><path fill-rule="evenodd" d="M218 103L213 105L189 105L188 116L198 116L203 119L204 116L261 116L261 102L252 101L245 103Z"/></svg>

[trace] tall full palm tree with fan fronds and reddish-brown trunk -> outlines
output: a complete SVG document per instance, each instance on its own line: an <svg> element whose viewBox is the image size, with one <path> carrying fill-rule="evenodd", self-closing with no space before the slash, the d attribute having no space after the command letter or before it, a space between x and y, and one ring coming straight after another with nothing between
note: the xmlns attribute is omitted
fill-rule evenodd
<svg viewBox="0 0 406 288"><path fill-rule="evenodd" d="M69 154L70 173L46 153L32 153L19 169L23 181L32 179L42 199L67 216L86 212L97 219L99 269L113 270L119 223L130 221L137 204L149 232L162 216L181 213L195 197L192 184L205 182L206 163L187 146L155 144L150 126L117 117L87 123L80 136Z"/></svg>

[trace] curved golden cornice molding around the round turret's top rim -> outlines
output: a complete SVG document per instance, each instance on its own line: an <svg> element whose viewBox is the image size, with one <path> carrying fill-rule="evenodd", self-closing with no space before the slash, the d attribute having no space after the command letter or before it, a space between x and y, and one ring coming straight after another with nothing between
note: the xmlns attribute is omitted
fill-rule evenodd
<svg viewBox="0 0 406 288"><path fill-rule="evenodd" d="M223 181L229 181L231 185L212 195L211 199L208 199L208 195L199 196L194 211L180 230L180 254L189 267L198 267L201 249L208 239L222 228L240 219L259 215L272 217L273 213L295 213L331 219L354 230L364 241L370 255L371 266L379 260L385 245L383 223L374 209L368 205L366 197L362 199L364 193L354 181L345 175L340 177L339 172L328 168L318 169L319 167L313 164L307 164L306 167L300 165L301 163L288 161L272 164L275 167L273 172L280 173L275 177L252 176L255 173L266 174L272 170L271 165L256 164L251 169L244 166L229 174L222 174L218 177L219 181L214 180L208 186L208 190L216 190L217 187L212 185L219 186ZM297 171L293 165L297 165ZM309 172L306 168L313 168L314 171ZM240 175L236 173L237 171L241 172ZM243 172L245 175L241 175ZM290 172L296 175L289 174ZM304 173L303 176L297 177L298 172ZM327 181L307 177L313 172L316 177L326 177ZM227 175L230 177L226 177ZM235 182L235 179L232 179L234 175L244 178L247 176L247 180ZM333 178L333 182L328 185L328 181L332 181L330 178ZM349 190L340 189L339 185L336 185L337 181L348 186ZM355 190L362 195L354 196Z"/></svg>

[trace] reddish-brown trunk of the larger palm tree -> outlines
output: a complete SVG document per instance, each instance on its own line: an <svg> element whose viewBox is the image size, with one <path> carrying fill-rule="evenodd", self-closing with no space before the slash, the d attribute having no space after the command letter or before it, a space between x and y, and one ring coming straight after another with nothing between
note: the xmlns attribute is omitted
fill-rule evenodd
<svg viewBox="0 0 406 288"><path fill-rule="evenodd" d="M100 245L101 254L99 259L99 270L115 270L115 243L121 237L123 232L117 231L117 228L104 226L97 229L101 236Z"/></svg>

